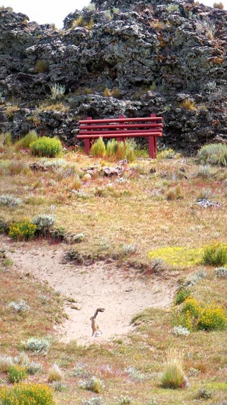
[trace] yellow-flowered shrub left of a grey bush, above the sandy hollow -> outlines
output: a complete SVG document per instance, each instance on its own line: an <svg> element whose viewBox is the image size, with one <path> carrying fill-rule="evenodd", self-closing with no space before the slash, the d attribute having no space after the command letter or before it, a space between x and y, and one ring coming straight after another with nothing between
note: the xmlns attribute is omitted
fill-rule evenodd
<svg viewBox="0 0 227 405"><path fill-rule="evenodd" d="M10 225L9 236L15 240L28 240L34 237L36 225L26 218Z"/></svg>

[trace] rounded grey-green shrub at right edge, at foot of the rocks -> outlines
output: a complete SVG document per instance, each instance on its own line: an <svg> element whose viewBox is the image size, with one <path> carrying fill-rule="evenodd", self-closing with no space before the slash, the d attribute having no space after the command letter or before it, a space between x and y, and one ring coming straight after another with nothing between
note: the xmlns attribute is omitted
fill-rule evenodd
<svg viewBox="0 0 227 405"><path fill-rule="evenodd" d="M221 143L211 143L204 145L198 151L198 160L203 165L221 165L226 166L227 163L227 145Z"/></svg>

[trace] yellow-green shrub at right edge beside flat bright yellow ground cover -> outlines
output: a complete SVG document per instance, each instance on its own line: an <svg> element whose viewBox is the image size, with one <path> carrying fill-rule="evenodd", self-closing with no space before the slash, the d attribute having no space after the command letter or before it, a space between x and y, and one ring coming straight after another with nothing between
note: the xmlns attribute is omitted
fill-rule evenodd
<svg viewBox="0 0 227 405"><path fill-rule="evenodd" d="M214 243L207 246L203 252L203 263L213 266L223 266L227 262L227 244Z"/></svg>

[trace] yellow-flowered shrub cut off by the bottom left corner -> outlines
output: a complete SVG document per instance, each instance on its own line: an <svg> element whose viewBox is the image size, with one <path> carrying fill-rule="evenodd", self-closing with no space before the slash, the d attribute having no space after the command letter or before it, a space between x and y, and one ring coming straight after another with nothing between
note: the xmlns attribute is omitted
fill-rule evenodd
<svg viewBox="0 0 227 405"><path fill-rule="evenodd" d="M44 384L20 383L0 390L1 405L55 405L52 391Z"/></svg>

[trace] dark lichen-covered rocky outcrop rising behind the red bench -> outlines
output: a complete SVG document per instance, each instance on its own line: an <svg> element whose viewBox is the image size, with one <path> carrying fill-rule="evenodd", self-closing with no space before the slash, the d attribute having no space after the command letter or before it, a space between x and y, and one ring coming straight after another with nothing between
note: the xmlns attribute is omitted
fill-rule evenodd
<svg viewBox="0 0 227 405"><path fill-rule="evenodd" d="M163 142L175 148L193 151L223 137L226 17L192 1L96 0L59 31L3 9L0 128L74 144L79 118L155 112ZM53 84L65 95L53 99Z"/></svg>

